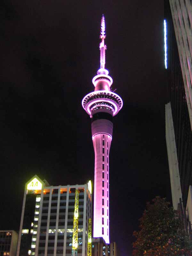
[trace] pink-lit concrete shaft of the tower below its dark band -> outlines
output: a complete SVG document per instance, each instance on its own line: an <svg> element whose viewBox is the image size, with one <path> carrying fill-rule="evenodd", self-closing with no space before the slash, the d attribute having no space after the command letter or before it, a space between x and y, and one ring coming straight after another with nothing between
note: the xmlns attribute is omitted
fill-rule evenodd
<svg viewBox="0 0 192 256"><path fill-rule="evenodd" d="M109 150L113 123L107 119L92 122L95 151L93 237L103 237L109 244Z"/></svg>

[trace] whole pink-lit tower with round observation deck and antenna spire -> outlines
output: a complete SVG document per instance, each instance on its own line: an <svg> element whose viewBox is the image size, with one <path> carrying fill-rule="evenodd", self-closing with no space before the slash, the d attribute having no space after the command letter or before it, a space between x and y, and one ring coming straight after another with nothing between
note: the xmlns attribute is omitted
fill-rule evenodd
<svg viewBox="0 0 192 256"><path fill-rule="evenodd" d="M109 149L113 133L113 116L123 101L110 91L113 79L105 69L105 18L101 18L100 69L92 83L94 92L87 94L82 106L91 117L92 140L95 152L93 237L103 237L109 244Z"/></svg>

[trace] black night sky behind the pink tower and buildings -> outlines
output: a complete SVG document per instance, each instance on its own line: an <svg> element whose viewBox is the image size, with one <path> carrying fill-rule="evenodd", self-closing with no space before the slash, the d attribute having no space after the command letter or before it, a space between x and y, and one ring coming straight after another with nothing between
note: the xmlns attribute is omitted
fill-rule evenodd
<svg viewBox="0 0 192 256"><path fill-rule="evenodd" d="M146 202L171 200L165 142L163 0L1 2L0 229L19 229L25 183L94 177L91 119L99 33L106 20L106 68L124 106L110 149L110 238L132 252Z"/></svg>

